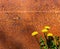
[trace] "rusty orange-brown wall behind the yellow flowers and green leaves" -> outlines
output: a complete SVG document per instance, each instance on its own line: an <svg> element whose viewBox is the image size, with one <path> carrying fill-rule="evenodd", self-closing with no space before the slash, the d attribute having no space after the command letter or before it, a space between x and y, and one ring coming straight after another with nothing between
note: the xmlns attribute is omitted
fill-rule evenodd
<svg viewBox="0 0 60 49"><path fill-rule="evenodd" d="M0 49L39 49L45 25L60 36L60 0L0 0Z"/></svg>

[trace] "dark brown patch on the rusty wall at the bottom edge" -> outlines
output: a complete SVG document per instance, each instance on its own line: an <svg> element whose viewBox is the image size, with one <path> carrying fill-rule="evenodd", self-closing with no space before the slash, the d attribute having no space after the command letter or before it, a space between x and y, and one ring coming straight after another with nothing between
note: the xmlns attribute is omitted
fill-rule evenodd
<svg viewBox="0 0 60 49"><path fill-rule="evenodd" d="M16 41L8 41L5 48L7 49L24 49L24 45L23 43L19 43L19 42L16 42ZM26 49L26 48L25 48Z"/></svg>

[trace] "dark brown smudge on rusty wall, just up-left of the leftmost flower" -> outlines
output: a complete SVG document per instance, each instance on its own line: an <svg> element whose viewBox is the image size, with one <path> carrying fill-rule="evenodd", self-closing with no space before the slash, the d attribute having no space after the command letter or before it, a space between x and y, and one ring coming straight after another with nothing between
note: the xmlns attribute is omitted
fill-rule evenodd
<svg viewBox="0 0 60 49"><path fill-rule="evenodd" d="M33 25L26 25L24 28L22 28L22 30L20 30L23 34L31 34L33 31L35 31L36 30L36 28L35 28L35 26L33 26Z"/></svg>

